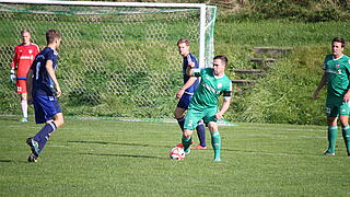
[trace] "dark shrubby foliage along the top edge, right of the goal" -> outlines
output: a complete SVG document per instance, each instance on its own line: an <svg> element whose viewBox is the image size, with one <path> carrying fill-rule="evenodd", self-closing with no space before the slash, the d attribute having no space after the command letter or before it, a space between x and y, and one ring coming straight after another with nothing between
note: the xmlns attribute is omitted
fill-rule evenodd
<svg viewBox="0 0 350 197"><path fill-rule="evenodd" d="M231 3L233 7L234 2ZM234 14L223 14L223 18L243 21L267 19L303 22L348 21L349 10L345 0L249 0L235 10Z"/></svg>

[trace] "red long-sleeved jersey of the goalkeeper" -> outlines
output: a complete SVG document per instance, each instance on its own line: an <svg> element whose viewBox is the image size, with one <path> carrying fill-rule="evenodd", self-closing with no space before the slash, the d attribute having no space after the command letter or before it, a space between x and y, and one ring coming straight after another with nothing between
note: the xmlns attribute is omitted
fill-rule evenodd
<svg viewBox="0 0 350 197"><path fill-rule="evenodd" d="M11 68L14 69L18 66L18 79L26 79L26 74L35 59L35 56L39 53L39 47L33 43L30 45L18 45L14 48L14 57L11 63Z"/></svg>

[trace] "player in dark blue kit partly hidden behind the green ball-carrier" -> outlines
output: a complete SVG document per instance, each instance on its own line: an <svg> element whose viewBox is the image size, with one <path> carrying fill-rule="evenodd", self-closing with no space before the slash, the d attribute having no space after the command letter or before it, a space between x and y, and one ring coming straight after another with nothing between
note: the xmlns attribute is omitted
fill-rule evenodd
<svg viewBox="0 0 350 197"><path fill-rule="evenodd" d="M189 40L187 39L179 39L177 42L178 53L183 56L183 74L184 74L184 85L183 88L176 93L176 97L179 99L178 104L175 108L174 116L177 119L177 123L182 130L184 131L184 123L185 116L184 113L188 108L188 104L190 99L192 97L198 84L199 79L196 77L188 77L186 74L186 69L188 65L192 65L195 68L199 68L197 58L189 53ZM197 126L197 135L200 144L192 147L192 149L207 149L206 144L206 127L200 120ZM182 147L182 143L177 147Z"/></svg>

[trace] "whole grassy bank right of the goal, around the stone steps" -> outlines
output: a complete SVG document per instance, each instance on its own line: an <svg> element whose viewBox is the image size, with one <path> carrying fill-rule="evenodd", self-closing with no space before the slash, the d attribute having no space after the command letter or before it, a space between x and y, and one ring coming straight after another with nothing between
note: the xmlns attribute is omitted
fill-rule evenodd
<svg viewBox="0 0 350 197"><path fill-rule="evenodd" d="M254 46L293 47L266 77L244 94L235 94L225 118L231 121L325 124L324 94L311 100L322 77L322 61L335 36L350 37L347 22L223 22L215 25L215 54L228 55L228 74L254 69ZM347 50L345 51L347 54ZM234 89L236 90L236 88ZM323 91L325 93L326 90Z"/></svg>

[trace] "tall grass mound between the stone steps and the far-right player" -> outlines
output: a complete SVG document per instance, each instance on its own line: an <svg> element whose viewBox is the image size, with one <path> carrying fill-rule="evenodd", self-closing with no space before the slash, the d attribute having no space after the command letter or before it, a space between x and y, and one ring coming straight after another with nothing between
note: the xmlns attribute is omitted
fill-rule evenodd
<svg viewBox="0 0 350 197"><path fill-rule="evenodd" d="M242 119L245 121L323 124L324 96L312 100L323 74L322 57L328 47L295 47L294 53L275 65L268 76L247 94Z"/></svg>

